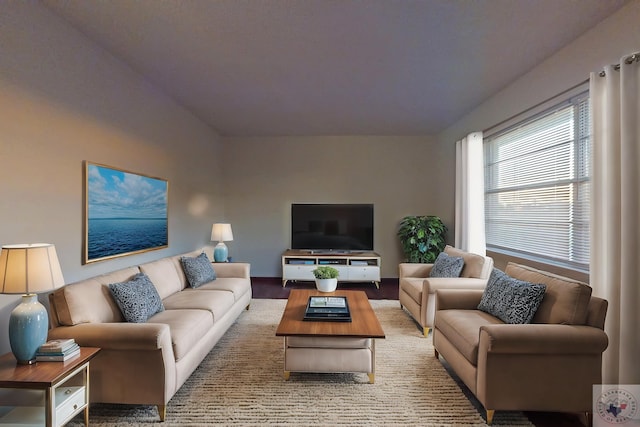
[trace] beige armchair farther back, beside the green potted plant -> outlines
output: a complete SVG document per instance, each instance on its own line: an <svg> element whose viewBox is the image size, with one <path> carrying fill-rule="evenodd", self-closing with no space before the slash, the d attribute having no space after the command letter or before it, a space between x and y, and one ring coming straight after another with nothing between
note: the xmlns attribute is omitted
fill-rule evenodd
<svg viewBox="0 0 640 427"><path fill-rule="evenodd" d="M460 277L429 277L433 264L399 265L400 307L405 308L418 322L425 337L433 327L435 292L438 289L484 290L493 269L493 259L490 257L465 252L449 245L444 248L444 252L464 259Z"/></svg>

